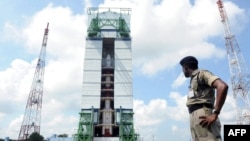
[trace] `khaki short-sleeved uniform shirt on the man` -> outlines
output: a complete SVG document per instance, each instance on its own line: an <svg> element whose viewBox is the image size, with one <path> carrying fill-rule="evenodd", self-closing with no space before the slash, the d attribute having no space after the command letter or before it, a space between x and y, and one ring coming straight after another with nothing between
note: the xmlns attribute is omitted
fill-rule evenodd
<svg viewBox="0 0 250 141"><path fill-rule="evenodd" d="M187 106L204 103L213 106L215 91L212 84L218 78L218 76L213 75L208 70L195 70L190 79Z"/></svg>

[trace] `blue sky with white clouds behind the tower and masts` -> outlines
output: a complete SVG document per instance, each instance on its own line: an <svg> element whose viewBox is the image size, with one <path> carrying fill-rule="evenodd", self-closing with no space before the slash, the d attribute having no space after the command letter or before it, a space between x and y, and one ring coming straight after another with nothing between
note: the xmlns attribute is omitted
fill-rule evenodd
<svg viewBox="0 0 250 141"><path fill-rule="evenodd" d="M144 141L190 140L185 106L189 80L179 60L199 59L229 85L217 0L0 1L0 138L16 139L44 29L50 23L41 134L72 135L79 121L87 7L130 7L135 128ZM225 0L232 33L250 66L250 2ZM220 119L236 123L229 90Z"/></svg>

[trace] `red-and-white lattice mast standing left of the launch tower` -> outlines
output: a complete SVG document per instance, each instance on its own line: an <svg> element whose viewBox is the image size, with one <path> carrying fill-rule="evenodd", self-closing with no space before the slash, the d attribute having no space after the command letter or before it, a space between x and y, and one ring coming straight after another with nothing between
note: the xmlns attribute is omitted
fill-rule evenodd
<svg viewBox="0 0 250 141"><path fill-rule="evenodd" d="M43 79L45 68L46 45L49 33L49 23L44 31L42 48L37 61L36 70L29 93L23 122L19 132L18 140L25 141L29 136L37 132L40 134L40 121L43 97Z"/></svg>

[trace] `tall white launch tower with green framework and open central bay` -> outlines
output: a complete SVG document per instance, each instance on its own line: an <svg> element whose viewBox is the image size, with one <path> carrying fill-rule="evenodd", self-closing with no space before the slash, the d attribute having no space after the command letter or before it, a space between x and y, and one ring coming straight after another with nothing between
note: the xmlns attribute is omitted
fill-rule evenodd
<svg viewBox="0 0 250 141"><path fill-rule="evenodd" d="M75 141L136 141L129 8L89 8Z"/></svg>

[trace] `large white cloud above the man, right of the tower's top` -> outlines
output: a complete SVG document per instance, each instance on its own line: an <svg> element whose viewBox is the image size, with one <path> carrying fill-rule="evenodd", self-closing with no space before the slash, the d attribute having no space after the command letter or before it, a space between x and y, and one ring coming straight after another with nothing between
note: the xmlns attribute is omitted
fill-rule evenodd
<svg viewBox="0 0 250 141"><path fill-rule="evenodd" d="M194 5L188 0L154 2L106 0L100 5L132 8L133 60L139 71L154 75L190 54L202 59L225 57L224 48L208 41L223 36L215 0L196 0ZM236 7L230 15L244 13Z"/></svg>

